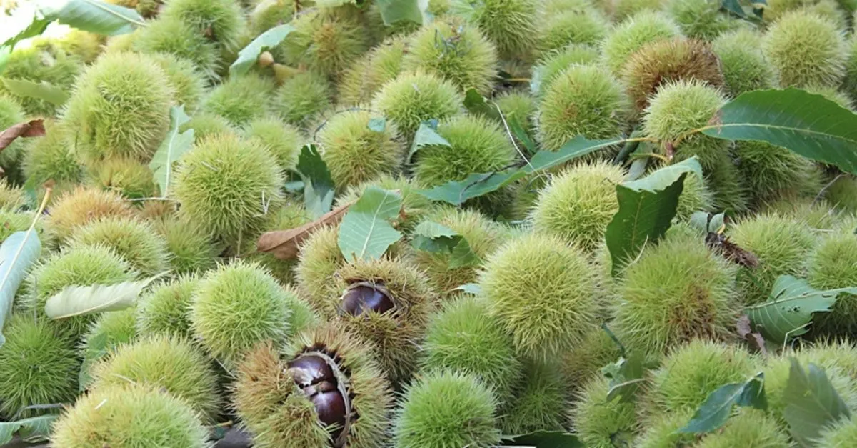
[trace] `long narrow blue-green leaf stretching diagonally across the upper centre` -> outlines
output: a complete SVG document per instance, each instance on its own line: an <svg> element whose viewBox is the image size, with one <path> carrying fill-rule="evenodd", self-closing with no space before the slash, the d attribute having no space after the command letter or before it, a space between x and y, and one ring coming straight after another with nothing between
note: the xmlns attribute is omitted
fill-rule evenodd
<svg viewBox="0 0 857 448"><path fill-rule="evenodd" d="M530 160L530 163L520 168L510 168L494 173L473 173L467 179L447 182L431 190L418 190L417 193L434 201L461 205L474 197L480 197L491 191L500 190L500 188L510 185L518 179L523 179L529 174L561 165L582 155L590 154L598 149L608 148L621 142L624 142L624 140L620 138L593 141L586 140L582 136L577 136L555 153L550 151L537 152Z"/></svg>

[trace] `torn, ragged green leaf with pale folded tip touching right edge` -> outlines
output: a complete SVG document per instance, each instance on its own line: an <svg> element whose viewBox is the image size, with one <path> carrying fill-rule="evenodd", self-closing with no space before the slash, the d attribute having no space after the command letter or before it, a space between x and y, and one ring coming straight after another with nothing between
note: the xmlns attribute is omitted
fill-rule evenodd
<svg viewBox="0 0 857 448"><path fill-rule="evenodd" d="M768 301L747 306L753 329L765 339L785 344L790 338L806 334L813 312L829 312L841 293L857 294L857 287L819 291L792 275L780 275L771 288Z"/></svg>

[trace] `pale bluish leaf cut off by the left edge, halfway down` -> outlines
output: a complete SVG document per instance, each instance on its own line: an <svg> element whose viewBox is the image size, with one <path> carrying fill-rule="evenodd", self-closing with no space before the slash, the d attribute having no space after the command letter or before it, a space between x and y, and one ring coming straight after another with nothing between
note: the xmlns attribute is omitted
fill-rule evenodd
<svg viewBox="0 0 857 448"><path fill-rule="evenodd" d="M0 346L6 342L3 324L12 312L15 294L41 252L42 243L34 227L12 233L0 245Z"/></svg>

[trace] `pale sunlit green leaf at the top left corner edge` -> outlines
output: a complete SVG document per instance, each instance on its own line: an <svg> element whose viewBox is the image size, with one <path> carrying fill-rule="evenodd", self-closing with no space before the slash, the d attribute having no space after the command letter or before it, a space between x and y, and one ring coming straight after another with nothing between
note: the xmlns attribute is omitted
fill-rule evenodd
<svg viewBox="0 0 857 448"><path fill-rule="evenodd" d="M146 22L135 9L124 8L99 0L66 0L41 8L46 19L90 33L117 36L134 33Z"/></svg>

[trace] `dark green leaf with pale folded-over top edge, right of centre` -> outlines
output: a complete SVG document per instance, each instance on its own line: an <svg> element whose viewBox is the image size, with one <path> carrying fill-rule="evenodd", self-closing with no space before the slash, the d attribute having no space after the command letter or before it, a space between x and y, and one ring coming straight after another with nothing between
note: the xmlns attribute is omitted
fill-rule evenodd
<svg viewBox="0 0 857 448"><path fill-rule="evenodd" d="M675 217L687 173L702 177L696 158L665 166L643 179L616 185L619 211L607 226L605 238L616 275L628 257L635 257L646 242L656 242Z"/></svg>

